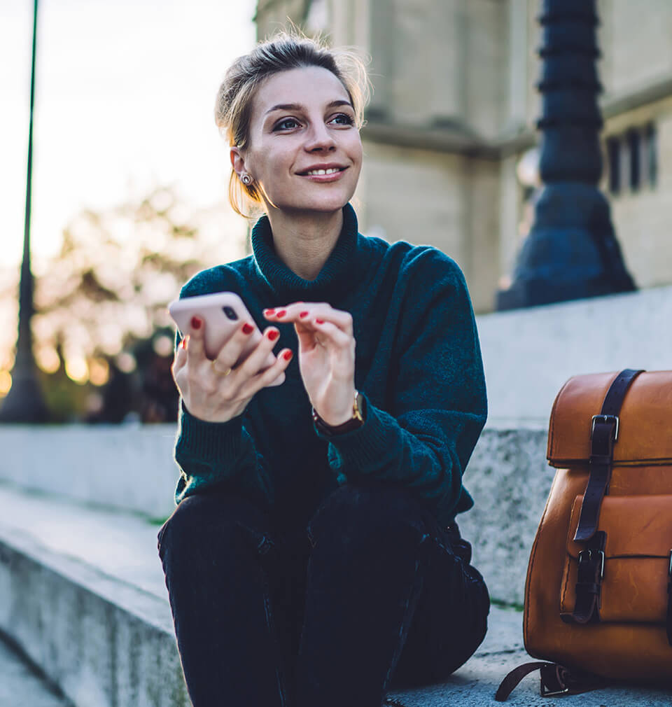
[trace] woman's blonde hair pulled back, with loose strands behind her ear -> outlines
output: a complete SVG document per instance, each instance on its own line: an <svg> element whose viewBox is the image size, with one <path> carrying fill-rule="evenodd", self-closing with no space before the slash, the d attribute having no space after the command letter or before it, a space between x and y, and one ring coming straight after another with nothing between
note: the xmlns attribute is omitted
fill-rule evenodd
<svg viewBox="0 0 672 707"><path fill-rule="evenodd" d="M361 128L369 99L364 60L352 49L331 49L319 39L282 32L238 57L226 71L217 91L214 117L228 144L241 149L248 146L252 104L262 81L280 71L306 66L320 66L339 79L354 108L355 125ZM255 183L244 185L234 170L228 180L228 201L245 218L252 216L253 211L260 211L262 204Z"/></svg>

